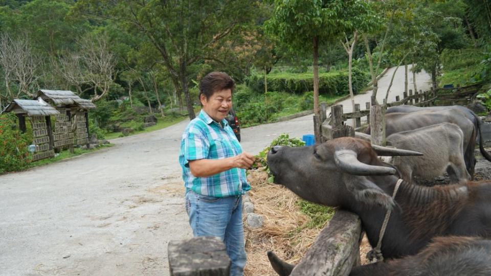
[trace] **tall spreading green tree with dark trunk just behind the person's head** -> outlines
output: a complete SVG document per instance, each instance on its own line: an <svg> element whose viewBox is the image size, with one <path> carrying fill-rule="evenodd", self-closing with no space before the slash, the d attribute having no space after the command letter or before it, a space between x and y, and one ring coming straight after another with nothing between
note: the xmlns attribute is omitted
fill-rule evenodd
<svg viewBox="0 0 491 276"><path fill-rule="evenodd" d="M184 93L193 119L190 66L211 58L208 54L214 45L254 24L259 6L255 1L233 0L82 0L76 10L86 16L110 18L130 32L145 35L158 50L174 86Z"/></svg>

